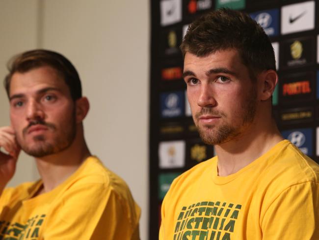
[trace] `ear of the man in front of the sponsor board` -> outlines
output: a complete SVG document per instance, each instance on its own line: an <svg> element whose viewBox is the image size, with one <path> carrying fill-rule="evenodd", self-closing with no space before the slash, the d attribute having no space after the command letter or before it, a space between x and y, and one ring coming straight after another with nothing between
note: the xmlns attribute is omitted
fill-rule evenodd
<svg viewBox="0 0 319 240"><path fill-rule="evenodd" d="M278 83L278 75L274 70L266 70L260 74L261 95L260 100L266 101L272 96L273 91Z"/></svg>

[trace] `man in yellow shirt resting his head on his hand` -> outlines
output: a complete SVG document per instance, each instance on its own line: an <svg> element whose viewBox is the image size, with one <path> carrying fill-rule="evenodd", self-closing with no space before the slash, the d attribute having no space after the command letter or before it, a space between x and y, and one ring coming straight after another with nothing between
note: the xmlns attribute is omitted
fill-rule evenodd
<svg viewBox="0 0 319 240"><path fill-rule="evenodd" d="M128 186L86 145L89 102L72 63L28 51L12 60L4 85L11 126L0 128L0 239L139 239L140 209ZM41 179L4 189L21 149Z"/></svg>

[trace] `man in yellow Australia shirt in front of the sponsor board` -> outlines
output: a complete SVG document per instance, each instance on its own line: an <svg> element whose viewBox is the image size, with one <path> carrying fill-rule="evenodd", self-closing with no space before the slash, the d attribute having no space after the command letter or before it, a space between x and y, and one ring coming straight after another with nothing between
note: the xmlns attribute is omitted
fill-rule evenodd
<svg viewBox="0 0 319 240"><path fill-rule="evenodd" d="M318 240L319 166L271 116L272 45L248 15L219 9L181 45L193 120L216 155L176 178L160 240Z"/></svg>

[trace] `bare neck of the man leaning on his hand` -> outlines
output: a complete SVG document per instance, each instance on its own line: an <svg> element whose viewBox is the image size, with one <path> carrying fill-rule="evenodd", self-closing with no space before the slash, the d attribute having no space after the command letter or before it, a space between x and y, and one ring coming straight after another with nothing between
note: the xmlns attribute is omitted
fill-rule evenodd
<svg viewBox="0 0 319 240"><path fill-rule="evenodd" d="M40 193L49 192L70 177L90 156L84 138L76 139L71 146L58 153L35 158L37 168L43 181Z"/></svg>

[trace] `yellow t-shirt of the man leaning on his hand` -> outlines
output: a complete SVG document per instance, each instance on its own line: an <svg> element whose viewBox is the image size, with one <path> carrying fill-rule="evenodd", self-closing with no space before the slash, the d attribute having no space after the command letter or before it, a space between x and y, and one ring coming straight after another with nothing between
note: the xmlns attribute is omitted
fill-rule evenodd
<svg viewBox="0 0 319 240"><path fill-rule="evenodd" d="M1 240L138 240L140 209L126 183L96 157L52 191L42 181L7 188L0 198Z"/></svg>

